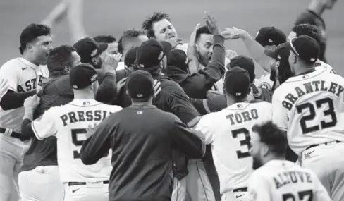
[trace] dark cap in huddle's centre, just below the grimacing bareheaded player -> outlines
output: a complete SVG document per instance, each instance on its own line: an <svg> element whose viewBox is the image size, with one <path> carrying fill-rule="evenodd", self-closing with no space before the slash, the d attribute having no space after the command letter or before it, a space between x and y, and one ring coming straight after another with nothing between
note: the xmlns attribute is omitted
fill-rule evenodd
<svg viewBox="0 0 344 201"><path fill-rule="evenodd" d="M159 66L160 61L171 51L169 42L159 42L156 39L149 39L142 42L136 51L137 64L142 68Z"/></svg>

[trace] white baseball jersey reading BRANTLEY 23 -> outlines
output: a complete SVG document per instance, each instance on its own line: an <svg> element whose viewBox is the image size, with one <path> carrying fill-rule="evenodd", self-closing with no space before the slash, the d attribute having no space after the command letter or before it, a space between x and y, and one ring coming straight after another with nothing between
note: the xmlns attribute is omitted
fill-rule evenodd
<svg viewBox="0 0 344 201"><path fill-rule="evenodd" d="M344 142L344 78L313 71L289 78L272 97L273 119L287 131L290 148L301 154L310 145Z"/></svg>

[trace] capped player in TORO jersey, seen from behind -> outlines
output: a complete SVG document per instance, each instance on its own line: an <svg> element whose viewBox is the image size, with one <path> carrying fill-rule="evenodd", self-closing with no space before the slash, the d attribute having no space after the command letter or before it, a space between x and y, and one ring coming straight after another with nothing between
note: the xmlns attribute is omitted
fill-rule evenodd
<svg viewBox="0 0 344 201"><path fill-rule="evenodd" d="M201 118L196 130L210 144L220 179L222 200L247 200L247 181L252 173L250 133L256 123L271 121L268 102L249 102L250 76L243 68L226 72L224 88L227 108Z"/></svg>

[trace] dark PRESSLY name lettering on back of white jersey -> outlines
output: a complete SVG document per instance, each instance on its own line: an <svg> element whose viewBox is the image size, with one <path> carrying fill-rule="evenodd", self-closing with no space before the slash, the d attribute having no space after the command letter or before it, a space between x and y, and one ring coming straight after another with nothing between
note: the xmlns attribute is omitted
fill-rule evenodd
<svg viewBox="0 0 344 201"><path fill-rule="evenodd" d="M60 116L63 126L80 121L103 121L112 112L105 110L70 111Z"/></svg>

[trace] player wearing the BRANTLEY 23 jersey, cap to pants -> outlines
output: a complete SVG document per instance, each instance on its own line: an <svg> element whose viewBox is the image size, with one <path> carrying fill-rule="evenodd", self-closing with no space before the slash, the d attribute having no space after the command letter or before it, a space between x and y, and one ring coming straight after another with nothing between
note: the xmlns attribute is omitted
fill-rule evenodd
<svg viewBox="0 0 344 201"><path fill-rule="evenodd" d="M290 49L295 76L274 92L274 123L287 133L302 166L317 173L332 200L343 200L344 79L314 69L320 47L311 37L301 35L283 45Z"/></svg>

